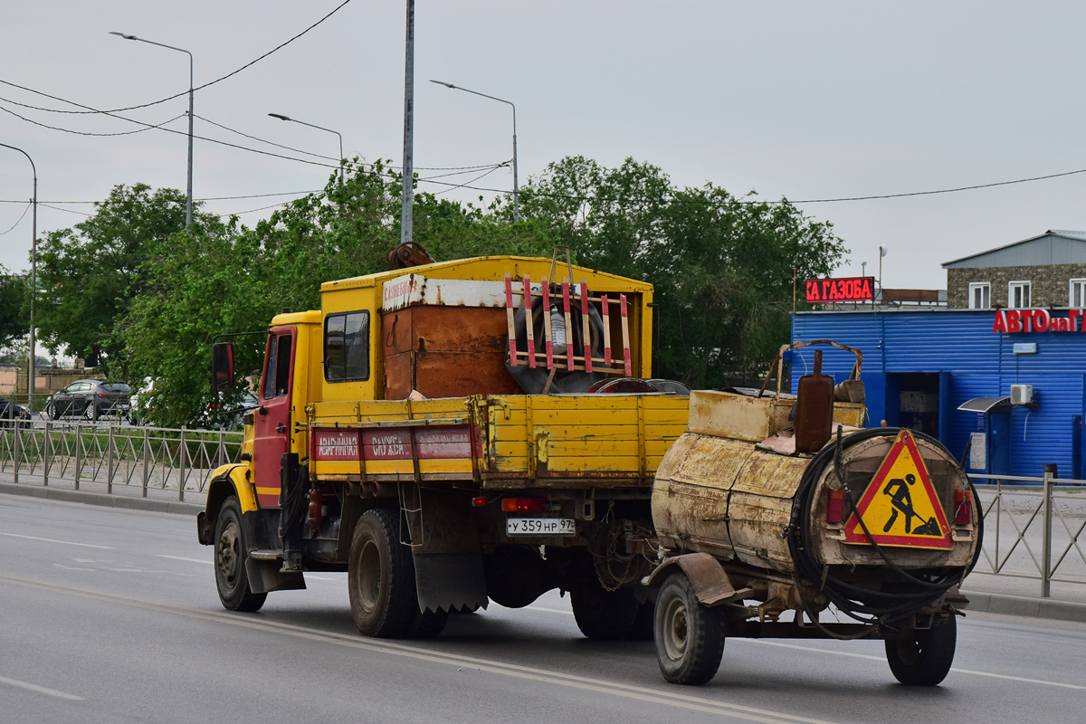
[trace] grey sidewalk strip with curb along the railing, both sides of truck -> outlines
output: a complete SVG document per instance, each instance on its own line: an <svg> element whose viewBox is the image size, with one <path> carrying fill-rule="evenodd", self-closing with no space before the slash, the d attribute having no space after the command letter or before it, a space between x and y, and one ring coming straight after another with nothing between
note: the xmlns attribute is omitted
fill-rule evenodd
<svg viewBox="0 0 1086 724"><path fill-rule="evenodd" d="M25 480L27 475L21 478ZM127 485L114 485L113 494L106 495L104 483L81 483L78 491L72 490L71 481L59 481L59 484L43 487L40 480L13 483L10 474L0 474L0 494L180 516L195 516L203 510L205 500L202 493L187 492L185 500L180 501L176 490L160 488L148 488L147 497L143 497L142 488ZM1041 598L1040 581L1037 579L973 573L965 580L962 593L969 598L967 611L1086 623L1086 584L1053 582L1051 596Z"/></svg>

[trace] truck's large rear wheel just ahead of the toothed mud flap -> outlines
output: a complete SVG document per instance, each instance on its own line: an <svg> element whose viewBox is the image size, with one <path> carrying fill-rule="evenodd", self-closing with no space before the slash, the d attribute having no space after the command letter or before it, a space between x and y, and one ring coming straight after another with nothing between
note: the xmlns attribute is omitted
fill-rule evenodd
<svg viewBox="0 0 1086 724"><path fill-rule="evenodd" d="M400 515L367 510L351 537L348 560L351 615L358 633L397 638L408 633L418 613L415 562L400 543Z"/></svg>

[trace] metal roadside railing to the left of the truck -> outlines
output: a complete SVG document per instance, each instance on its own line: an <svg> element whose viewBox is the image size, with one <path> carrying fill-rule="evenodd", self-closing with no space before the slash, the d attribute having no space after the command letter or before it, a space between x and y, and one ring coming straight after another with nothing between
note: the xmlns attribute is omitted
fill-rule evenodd
<svg viewBox="0 0 1086 724"><path fill-rule="evenodd" d="M0 473L14 482L204 493L215 468L237 462L242 433L114 423L23 422L0 428ZM22 480L21 480L22 479Z"/></svg>

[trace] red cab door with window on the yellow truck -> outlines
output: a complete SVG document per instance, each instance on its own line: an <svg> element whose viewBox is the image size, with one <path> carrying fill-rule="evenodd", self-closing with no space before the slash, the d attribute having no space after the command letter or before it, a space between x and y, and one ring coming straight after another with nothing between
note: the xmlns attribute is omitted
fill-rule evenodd
<svg viewBox="0 0 1086 724"><path fill-rule="evenodd" d="M253 472L262 508L279 506L279 466L290 449L290 405L298 330L277 327L268 334L260 407L253 416Z"/></svg>

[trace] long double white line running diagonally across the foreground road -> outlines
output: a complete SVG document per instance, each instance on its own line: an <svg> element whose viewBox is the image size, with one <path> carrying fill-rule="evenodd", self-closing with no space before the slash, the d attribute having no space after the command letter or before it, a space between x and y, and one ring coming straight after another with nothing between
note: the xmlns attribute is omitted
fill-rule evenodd
<svg viewBox="0 0 1086 724"><path fill-rule="evenodd" d="M492 661L489 659L480 659L477 657L457 653L444 653L442 651L425 649L416 646L394 644L382 639L359 638L357 635L339 634L331 631L321 631L319 628L311 628L307 626L298 626L294 624L279 623L275 621L261 621L245 614L226 613L225 611L209 611L205 609L177 606L174 604L160 604L138 598L118 596L115 594L105 594L85 588L77 588L75 586L45 583L41 581L20 579L3 574L0 574L0 582L11 583L13 585L20 585L28 588L38 588L50 593L60 593L80 598L88 598L106 604L123 604L132 608L156 611L159 613L174 613L180 617L226 623L233 626L240 626L254 631L264 631L267 633L279 633L318 643L334 644L379 653L402 656L432 663L441 663L458 668L469 666L479 671L485 671L504 676L539 681L556 686L597 691L599 694L607 694L626 699L646 701L691 711L700 711L721 716L731 716L733 719L742 719L752 722L762 722L765 724L795 724L797 722L800 724L832 724L825 720L799 716L796 714L786 714L784 712L770 711L756 707L746 707L728 701L695 697L668 690L653 689L645 686L620 684L618 682L608 682L605 679L590 678L576 674L566 674L546 669L536 669L533 666Z"/></svg>

